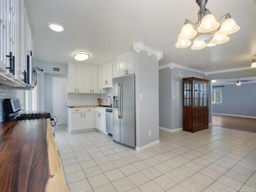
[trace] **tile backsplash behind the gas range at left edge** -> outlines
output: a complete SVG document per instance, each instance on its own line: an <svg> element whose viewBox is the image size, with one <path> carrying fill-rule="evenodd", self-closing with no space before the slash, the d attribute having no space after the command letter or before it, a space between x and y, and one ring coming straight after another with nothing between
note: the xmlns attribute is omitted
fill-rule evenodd
<svg viewBox="0 0 256 192"><path fill-rule="evenodd" d="M4 99L16 98L17 90L11 87L0 86L0 122L4 121Z"/></svg>

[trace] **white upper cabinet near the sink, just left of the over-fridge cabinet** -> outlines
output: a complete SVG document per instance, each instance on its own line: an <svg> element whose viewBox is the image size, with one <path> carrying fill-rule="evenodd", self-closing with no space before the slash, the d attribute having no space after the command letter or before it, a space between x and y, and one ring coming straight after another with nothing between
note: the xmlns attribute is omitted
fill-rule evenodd
<svg viewBox="0 0 256 192"><path fill-rule="evenodd" d="M112 62L101 66L102 88L112 87Z"/></svg>

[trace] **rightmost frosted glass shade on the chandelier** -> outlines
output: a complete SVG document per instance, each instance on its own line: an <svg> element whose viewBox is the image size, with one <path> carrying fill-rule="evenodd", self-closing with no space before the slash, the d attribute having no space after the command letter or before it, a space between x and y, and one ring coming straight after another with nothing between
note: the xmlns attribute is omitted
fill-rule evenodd
<svg viewBox="0 0 256 192"><path fill-rule="evenodd" d="M236 24L233 18L226 18L220 27L219 34L220 35L228 35L240 30L240 27Z"/></svg>

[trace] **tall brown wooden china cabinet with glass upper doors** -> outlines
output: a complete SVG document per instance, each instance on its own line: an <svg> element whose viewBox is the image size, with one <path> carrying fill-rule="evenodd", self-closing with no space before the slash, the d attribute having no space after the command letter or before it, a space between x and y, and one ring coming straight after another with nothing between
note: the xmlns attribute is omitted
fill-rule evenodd
<svg viewBox="0 0 256 192"><path fill-rule="evenodd" d="M194 133L208 128L209 80L183 78L183 130Z"/></svg>

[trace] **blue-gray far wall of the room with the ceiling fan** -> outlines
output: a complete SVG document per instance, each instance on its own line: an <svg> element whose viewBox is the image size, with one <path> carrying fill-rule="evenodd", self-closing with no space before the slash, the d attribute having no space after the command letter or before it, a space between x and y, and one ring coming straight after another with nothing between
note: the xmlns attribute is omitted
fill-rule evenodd
<svg viewBox="0 0 256 192"><path fill-rule="evenodd" d="M222 89L222 104L213 104L213 113L256 117L256 83L223 86L219 87Z"/></svg>

